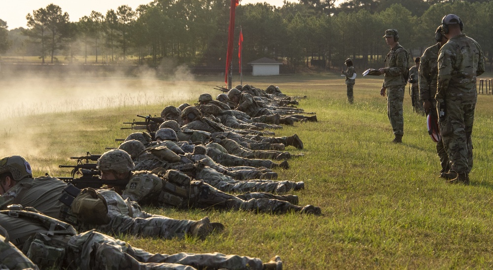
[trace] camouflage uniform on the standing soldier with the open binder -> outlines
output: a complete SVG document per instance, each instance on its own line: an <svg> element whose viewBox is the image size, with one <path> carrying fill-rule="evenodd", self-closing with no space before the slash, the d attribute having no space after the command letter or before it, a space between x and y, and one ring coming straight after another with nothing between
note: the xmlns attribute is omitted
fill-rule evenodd
<svg viewBox="0 0 493 270"><path fill-rule="evenodd" d="M394 135L404 135L404 117L402 102L406 80L404 72L407 70L407 52L399 44L387 54L385 58L385 77L382 87L387 88L387 116Z"/></svg>

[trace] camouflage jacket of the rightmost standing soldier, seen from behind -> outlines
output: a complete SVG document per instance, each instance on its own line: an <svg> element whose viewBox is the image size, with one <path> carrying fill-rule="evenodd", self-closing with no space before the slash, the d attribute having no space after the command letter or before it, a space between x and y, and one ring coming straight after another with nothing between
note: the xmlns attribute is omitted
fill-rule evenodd
<svg viewBox="0 0 493 270"><path fill-rule="evenodd" d="M438 54L438 83L435 100L474 104L476 76L485 72L485 57L478 42L465 34L447 41Z"/></svg>

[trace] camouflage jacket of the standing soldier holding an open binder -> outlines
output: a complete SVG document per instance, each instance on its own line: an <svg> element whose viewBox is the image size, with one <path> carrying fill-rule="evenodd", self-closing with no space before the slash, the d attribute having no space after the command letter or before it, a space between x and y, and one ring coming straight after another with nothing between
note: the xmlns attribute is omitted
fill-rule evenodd
<svg viewBox="0 0 493 270"><path fill-rule="evenodd" d="M393 47L385 58L385 77L383 87L405 85L404 72L407 68L407 52L399 44Z"/></svg>

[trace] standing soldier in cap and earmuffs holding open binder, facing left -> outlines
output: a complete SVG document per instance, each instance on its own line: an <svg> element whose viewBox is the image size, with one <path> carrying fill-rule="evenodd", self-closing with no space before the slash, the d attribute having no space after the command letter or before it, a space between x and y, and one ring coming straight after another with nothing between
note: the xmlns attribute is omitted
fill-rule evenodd
<svg viewBox="0 0 493 270"><path fill-rule="evenodd" d="M404 116L402 112L402 101L406 88L405 74L408 70L408 52L399 44L399 34L395 29L385 31L385 42L390 51L385 58L385 68L380 68L380 75L385 74L384 83L380 95L385 97L387 92L387 116L394 134L393 143L402 143L404 135Z"/></svg>

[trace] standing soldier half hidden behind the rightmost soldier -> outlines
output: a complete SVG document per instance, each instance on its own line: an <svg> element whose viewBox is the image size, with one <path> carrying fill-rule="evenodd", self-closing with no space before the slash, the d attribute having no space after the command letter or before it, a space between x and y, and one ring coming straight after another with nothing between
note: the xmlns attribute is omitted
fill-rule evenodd
<svg viewBox="0 0 493 270"><path fill-rule="evenodd" d="M442 27L439 26L435 32L435 40L437 43L431 47L424 50L423 56L421 57L421 64L419 68L419 86L420 86L420 101L423 104L424 113L428 115L431 113L433 119L438 119L436 112L436 79L438 76L438 51L447 42L447 38L443 34ZM436 143L436 153L440 159L440 177L452 179L455 176L450 176L450 162L447 152L443 148L442 139ZM455 173L453 173L455 174Z"/></svg>

